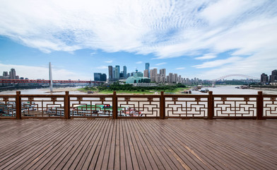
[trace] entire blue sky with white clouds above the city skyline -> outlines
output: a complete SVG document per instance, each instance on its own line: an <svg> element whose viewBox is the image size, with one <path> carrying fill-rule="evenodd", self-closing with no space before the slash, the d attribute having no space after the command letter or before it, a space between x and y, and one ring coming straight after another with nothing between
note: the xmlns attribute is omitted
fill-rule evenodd
<svg viewBox="0 0 277 170"><path fill-rule="evenodd" d="M107 66L185 78L277 69L276 0L0 0L0 73L93 79ZM236 77L231 77L231 79Z"/></svg>

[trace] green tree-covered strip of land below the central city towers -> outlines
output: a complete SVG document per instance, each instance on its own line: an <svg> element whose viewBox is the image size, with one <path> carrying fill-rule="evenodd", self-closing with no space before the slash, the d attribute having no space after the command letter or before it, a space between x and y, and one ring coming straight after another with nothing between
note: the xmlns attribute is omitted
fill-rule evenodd
<svg viewBox="0 0 277 170"><path fill-rule="evenodd" d="M86 86L78 89L78 91L94 91L98 94L112 94L117 91L117 94L157 94L160 91L170 94L179 94L182 91L189 89L184 84L175 85L160 85L160 86L133 86L132 84L104 84L102 86Z"/></svg>

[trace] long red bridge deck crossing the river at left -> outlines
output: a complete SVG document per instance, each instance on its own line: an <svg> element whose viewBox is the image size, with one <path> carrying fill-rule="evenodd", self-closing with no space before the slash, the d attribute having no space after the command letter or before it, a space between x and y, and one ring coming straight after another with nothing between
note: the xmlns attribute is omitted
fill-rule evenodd
<svg viewBox="0 0 277 170"><path fill-rule="evenodd" d="M83 80L53 80L53 83L62 84L100 84L102 81L83 81ZM45 83L49 84L50 80L33 80L33 79L0 79L0 83Z"/></svg>

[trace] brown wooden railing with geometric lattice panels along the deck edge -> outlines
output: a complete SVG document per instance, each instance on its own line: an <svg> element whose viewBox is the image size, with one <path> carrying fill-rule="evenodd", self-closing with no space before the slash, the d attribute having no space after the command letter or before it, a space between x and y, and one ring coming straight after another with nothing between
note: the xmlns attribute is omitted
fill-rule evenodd
<svg viewBox="0 0 277 170"><path fill-rule="evenodd" d="M0 95L0 118L277 118L277 95Z"/></svg>

